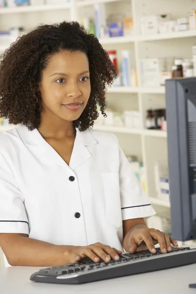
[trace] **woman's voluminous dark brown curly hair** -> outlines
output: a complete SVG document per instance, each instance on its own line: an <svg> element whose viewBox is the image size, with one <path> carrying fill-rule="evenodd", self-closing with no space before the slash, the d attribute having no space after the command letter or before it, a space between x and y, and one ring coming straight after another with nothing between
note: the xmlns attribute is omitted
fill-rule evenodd
<svg viewBox="0 0 196 294"><path fill-rule="evenodd" d="M84 52L89 60L91 94L74 126L80 131L92 127L98 118L97 104L106 116L106 86L117 77L116 69L93 34L77 22L63 22L37 26L0 55L0 117L29 130L39 127L43 108L38 85L49 57L62 50Z"/></svg>

